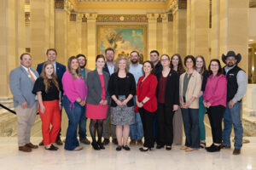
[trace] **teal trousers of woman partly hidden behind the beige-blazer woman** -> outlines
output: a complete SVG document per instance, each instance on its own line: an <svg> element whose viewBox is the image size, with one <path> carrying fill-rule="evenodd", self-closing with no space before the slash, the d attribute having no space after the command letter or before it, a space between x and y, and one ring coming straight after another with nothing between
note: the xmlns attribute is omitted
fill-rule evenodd
<svg viewBox="0 0 256 170"><path fill-rule="evenodd" d="M200 132L200 139L205 140L206 139L206 128L204 123L204 118L206 114L207 108L203 104L203 97L201 96L199 98L199 132Z"/></svg>

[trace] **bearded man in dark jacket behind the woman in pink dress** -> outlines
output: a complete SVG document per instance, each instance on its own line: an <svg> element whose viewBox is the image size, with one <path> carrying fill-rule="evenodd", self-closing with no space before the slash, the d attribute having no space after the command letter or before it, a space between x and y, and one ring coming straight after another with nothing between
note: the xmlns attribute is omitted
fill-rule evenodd
<svg viewBox="0 0 256 170"><path fill-rule="evenodd" d="M113 50L113 48L105 49L105 57L107 59L107 62L103 67L103 71L108 72L109 76L111 76L114 72L114 63L113 63L114 50ZM110 132L109 126L111 127L111 132ZM104 140L103 140L104 145L109 144L110 133L112 134L112 143L113 144L118 144L117 139L116 139L116 135L115 135L115 126L113 124L111 124L111 122L110 122L110 107L108 107L107 117L103 121L103 134L102 134L102 136L104 138Z"/></svg>

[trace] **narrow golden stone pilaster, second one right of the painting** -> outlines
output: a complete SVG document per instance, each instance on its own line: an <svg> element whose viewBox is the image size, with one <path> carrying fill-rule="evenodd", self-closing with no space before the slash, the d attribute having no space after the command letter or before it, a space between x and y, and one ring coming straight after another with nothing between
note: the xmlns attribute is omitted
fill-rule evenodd
<svg viewBox="0 0 256 170"><path fill-rule="evenodd" d="M162 54L168 54L168 35L169 35L169 29L168 29L168 14L161 14L162 18Z"/></svg>

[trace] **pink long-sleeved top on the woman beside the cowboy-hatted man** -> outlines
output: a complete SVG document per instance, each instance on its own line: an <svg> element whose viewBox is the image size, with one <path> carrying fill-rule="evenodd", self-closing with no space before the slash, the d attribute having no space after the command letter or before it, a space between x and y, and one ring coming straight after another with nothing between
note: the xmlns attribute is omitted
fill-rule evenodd
<svg viewBox="0 0 256 170"><path fill-rule="evenodd" d="M203 99L212 106L224 105L227 100L227 79L224 75L208 77Z"/></svg>

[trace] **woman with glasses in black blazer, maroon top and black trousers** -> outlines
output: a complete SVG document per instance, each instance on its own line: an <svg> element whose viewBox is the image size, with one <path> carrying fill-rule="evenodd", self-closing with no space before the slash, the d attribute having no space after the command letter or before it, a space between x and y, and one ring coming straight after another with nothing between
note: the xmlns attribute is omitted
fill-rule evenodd
<svg viewBox="0 0 256 170"><path fill-rule="evenodd" d="M179 76L170 68L170 57L163 54L160 57L163 71L157 75L158 86L156 89L157 109L157 146L172 150L173 127L172 118L179 104Z"/></svg>

